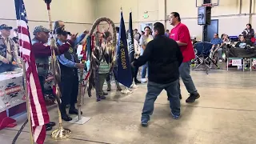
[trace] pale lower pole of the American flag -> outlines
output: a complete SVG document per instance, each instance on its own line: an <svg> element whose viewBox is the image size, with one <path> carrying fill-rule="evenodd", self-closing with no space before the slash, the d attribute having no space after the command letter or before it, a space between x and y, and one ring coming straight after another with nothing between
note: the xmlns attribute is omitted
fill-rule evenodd
<svg viewBox="0 0 256 144"><path fill-rule="evenodd" d="M27 120L29 122L29 129L30 129L30 143L34 144L34 136L32 133L32 124L31 124L31 115L30 115L30 97L29 97L27 85L26 85L26 65L24 60L22 61L22 69L23 69L23 79L24 79L25 94L26 94L26 115L27 115Z"/></svg>

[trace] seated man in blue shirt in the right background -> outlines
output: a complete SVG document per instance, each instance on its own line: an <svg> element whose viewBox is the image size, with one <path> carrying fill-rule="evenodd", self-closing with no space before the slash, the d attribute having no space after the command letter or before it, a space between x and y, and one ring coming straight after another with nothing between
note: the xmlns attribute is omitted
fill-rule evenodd
<svg viewBox="0 0 256 144"><path fill-rule="evenodd" d="M215 33L214 34L214 39L212 39L210 41L211 44L213 44L210 52L212 52L213 54L215 54L216 52L218 52L218 59L219 59L219 62L222 62L222 47L224 45L223 41L222 41L222 38L218 38L218 34Z"/></svg>

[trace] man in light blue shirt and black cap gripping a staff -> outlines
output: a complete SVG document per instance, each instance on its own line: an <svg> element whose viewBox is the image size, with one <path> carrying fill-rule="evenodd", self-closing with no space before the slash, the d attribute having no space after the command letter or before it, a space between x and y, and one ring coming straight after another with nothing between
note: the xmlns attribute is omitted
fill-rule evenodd
<svg viewBox="0 0 256 144"><path fill-rule="evenodd" d="M69 32L64 30L62 27L56 29L57 34L57 45L62 46L67 41L67 35ZM89 32L86 30L79 37L80 42L85 38L86 34ZM74 43L74 46L78 45L78 41ZM60 111L62 113L62 119L65 121L71 121L72 118L66 114L66 105L70 104L69 114L78 114L78 110L75 108L75 103L78 98L78 69L83 69L84 64L78 61L78 56L74 46L70 46L70 49L59 55L58 62L62 70L61 75L61 92L62 92L62 103L60 106ZM81 112L82 113L82 112Z"/></svg>

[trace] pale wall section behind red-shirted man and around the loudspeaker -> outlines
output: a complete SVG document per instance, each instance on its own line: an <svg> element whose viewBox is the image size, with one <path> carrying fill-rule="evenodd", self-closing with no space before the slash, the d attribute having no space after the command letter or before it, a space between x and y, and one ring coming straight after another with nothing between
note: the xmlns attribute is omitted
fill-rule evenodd
<svg viewBox="0 0 256 144"><path fill-rule="evenodd" d="M246 28L246 24L249 22L249 10L250 0L242 0L242 11L240 10L240 0L220 0L219 6L212 8L212 19L218 19L218 33L238 35L242 33L242 30ZM195 3L192 0L182 0L183 5L176 6L174 3L176 0L167 0L167 14L172 11L177 11L182 18L182 22L190 29L191 35L196 35L198 38L202 38L202 26L197 25L197 13L198 9L195 7ZM253 13L255 12L255 0L253 0ZM252 26L256 26L256 21L252 18ZM167 25L167 29L171 29L172 26Z"/></svg>

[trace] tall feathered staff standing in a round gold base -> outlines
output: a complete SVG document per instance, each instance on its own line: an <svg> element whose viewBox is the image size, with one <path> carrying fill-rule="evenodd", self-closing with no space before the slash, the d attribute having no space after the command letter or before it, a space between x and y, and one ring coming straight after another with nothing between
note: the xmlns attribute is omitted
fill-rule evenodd
<svg viewBox="0 0 256 144"><path fill-rule="evenodd" d="M53 35L53 24L51 21L51 15L50 15L50 3L52 0L44 0L46 2L47 6L47 11L48 11L48 19L49 19L49 27L50 27L50 50L51 50L51 70L54 74L54 91L56 94L56 101L58 102L58 122L59 122L59 127L58 130L54 130L51 134L51 137L54 139L63 139L63 138L68 138L70 137L71 131L68 129L64 129L62 127L62 114L59 110L60 106L60 98L61 98L61 91L60 91L60 67L57 62L55 50L58 52L58 47L56 46L56 41L54 40L54 35Z"/></svg>

